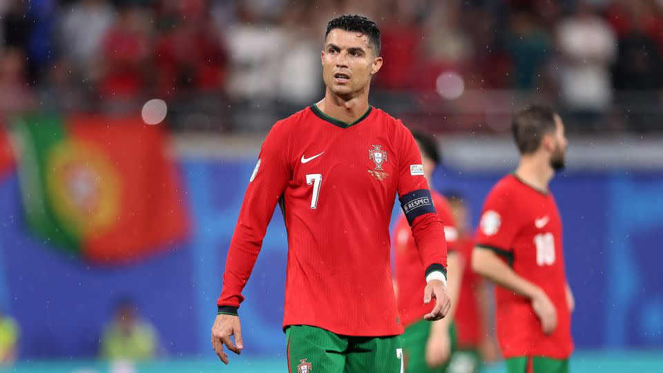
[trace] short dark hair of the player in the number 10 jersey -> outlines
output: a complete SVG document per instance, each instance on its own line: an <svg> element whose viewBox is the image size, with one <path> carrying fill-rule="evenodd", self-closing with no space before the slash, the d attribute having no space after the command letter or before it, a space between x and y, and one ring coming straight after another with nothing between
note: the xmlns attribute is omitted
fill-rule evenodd
<svg viewBox="0 0 663 373"><path fill-rule="evenodd" d="M513 116L511 133L521 154L534 153L544 135L555 132L555 115L549 106L532 105Z"/></svg>

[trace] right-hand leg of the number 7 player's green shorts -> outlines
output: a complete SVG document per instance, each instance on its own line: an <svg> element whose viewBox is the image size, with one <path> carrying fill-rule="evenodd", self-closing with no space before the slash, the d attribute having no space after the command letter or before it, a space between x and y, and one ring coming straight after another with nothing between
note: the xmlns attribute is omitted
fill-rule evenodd
<svg viewBox="0 0 663 373"><path fill-rule="evenodd" d="M401 336L349 337L345 373L403 372Z"/></svg>

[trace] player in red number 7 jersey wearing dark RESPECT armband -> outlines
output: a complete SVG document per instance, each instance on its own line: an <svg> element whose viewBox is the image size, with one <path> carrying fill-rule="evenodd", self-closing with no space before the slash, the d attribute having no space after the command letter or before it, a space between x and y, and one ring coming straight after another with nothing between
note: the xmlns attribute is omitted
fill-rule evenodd
<svg viewBox="0 0 663 373"><path fill-rule="evenodd" d="M451 306L444 229L412 134L368 103L371 78L383 64L376 24L358 15L332 19L321 59L325 97L277 122L262 144L211 342L224 363L224 345L236 354L243 348L241 291L280 202L288 233L283 328L290 372L401 372L389 238L396 193L426 269L420 296L435 299L424 316L430 321Z"/></svg>

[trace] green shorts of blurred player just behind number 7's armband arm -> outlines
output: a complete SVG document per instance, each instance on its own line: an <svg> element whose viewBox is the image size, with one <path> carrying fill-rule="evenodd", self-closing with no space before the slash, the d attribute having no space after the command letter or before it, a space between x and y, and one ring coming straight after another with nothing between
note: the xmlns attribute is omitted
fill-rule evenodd
<svg viewBox="0 0 663 373"><path fill-rule="evenodd" d="M403 333L403 356L405 356L405 371L413 373L440 373L447 372L450 361L446 364L431 368L426 364L426 343L430 335L430 321L417 321L405 328ZM451 340L451 353L456 350L456 327L449 328Z"/></svg>

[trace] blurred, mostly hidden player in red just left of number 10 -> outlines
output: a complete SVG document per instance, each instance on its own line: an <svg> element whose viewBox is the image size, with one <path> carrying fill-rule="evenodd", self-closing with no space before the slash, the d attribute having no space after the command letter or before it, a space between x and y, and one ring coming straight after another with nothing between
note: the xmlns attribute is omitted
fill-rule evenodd
<svg viewBox="0 0 663 373"><path fill-rule="evenodd" d="M495 361L499 354L492 332L492 286L472 271L474 237L463 195L448 191L445 197L456 222L458 238L455 247L463 268L458 305L454 312L458 343L451 358L449 372L480 372L483 361Z"/></svg>

